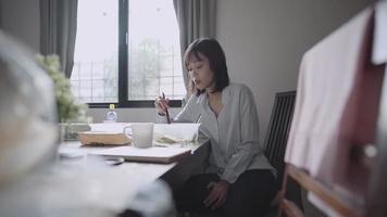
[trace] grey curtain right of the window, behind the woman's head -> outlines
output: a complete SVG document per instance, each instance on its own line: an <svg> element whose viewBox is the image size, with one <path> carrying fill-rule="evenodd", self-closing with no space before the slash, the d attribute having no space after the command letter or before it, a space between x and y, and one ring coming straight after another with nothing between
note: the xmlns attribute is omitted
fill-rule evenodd
<svg viewBox="0 0 387 217"><path fill-rule="evenodd" d="M215 37L216 0L174 0L180 34L182 60L187 47L197 38ZM189 76L183 63L184 84L188 90ZM189 97L189 90L187 91Z"/></svg>

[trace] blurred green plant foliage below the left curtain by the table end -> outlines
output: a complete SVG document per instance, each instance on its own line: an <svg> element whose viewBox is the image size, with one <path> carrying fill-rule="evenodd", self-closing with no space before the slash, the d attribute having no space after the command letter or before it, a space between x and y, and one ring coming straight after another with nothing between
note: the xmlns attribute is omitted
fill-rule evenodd
<svg viewBox="0 0 387 217"><path fill-rule="evenodd" d="M37 62L51 77L55 88L58 119L61 123L86 122L85 111L87 105L79 103L74 98L70 80L61 71L58 55L37 55Z"/></svg>

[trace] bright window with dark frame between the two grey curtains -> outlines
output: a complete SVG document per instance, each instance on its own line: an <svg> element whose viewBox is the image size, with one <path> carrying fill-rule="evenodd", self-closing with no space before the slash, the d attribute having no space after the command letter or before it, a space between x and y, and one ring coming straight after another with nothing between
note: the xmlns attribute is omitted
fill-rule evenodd
<svg viewBox="0 0 387 217"><path fill-rule="evenodd" d="M72 91L90 106L186 94L172 0L78 0Z"/></svg>

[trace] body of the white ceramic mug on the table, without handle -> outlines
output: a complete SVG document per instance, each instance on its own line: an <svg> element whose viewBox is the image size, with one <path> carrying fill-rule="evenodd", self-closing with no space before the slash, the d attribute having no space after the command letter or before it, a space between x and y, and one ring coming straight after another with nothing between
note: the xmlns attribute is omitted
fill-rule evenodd
<svg viewBox="0 0 387 217"><path fill-rule="evenodd" d="M153 140L153 123L132 124L133 145L136 148L150 148Z"/></svg>

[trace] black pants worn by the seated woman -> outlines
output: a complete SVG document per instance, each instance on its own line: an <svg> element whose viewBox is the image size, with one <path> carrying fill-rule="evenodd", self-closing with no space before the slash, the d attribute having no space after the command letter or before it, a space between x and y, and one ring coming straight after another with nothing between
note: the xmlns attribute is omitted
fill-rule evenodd
<svg viewBox="0 0 387 217"><path fill-rule="evenodd" d="M278 191L278 184L270 170L247 170L229 186L223 206L211 210L203 204L210 193L207 186L211 181L219 180L220 177L215 174L200 174L189 178L184 188L174 194L177 210L197 214L216 213L224 217L260 216L264 214Z"/></svg>

